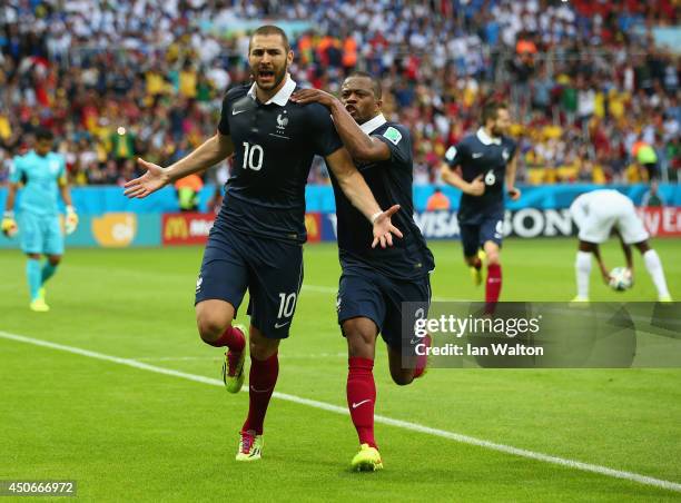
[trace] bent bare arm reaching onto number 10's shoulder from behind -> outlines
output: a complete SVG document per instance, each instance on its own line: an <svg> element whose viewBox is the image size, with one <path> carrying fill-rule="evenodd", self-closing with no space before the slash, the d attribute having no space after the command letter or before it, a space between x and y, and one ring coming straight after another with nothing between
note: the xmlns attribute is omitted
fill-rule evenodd
<svg viewBox="0 0 681 503"><path fill-rule="evenodd" d="M318 102L330 110L338 136L353 159L378 161L391 158L391 149L379 139L368 136L333 95L320 89L303 89L292 97L300 105Z"/></svg>

